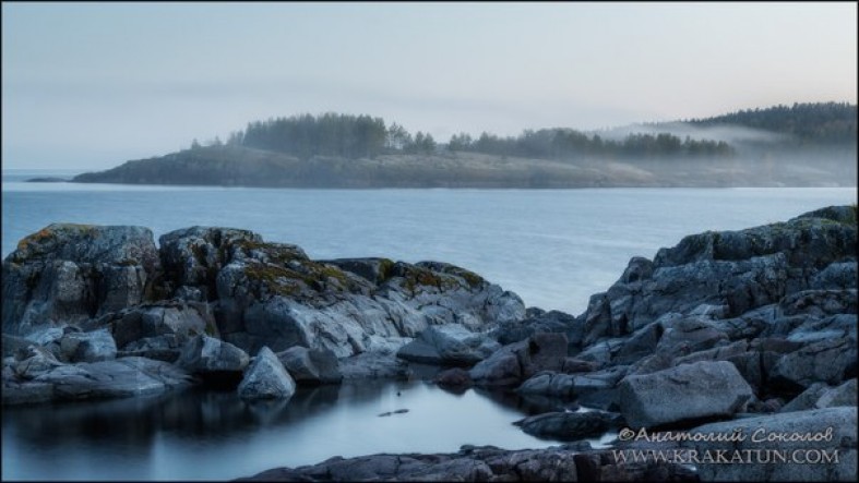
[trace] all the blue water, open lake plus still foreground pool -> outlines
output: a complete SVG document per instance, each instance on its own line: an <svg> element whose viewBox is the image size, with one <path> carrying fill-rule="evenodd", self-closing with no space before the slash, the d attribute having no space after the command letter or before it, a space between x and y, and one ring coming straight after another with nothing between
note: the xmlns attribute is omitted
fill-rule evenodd
<svg viewBox="0 0 859 483"><path fill-rule="evenodd" d="M594 190L266 190L24 183L3 172L2 254L51 222L244 228L312 258L436 259L472 269L527 305L581 314L632 256L690 233L782 221L857 202L852 188ZM399 391L401 396L396 393ZM396 409L405 414L379 418ZM231 479L372 452L464 444L545 447L511 423L511 395L455 395L419 382L302 390L287 404L192 393L4 409L2 476Z"/></svg>

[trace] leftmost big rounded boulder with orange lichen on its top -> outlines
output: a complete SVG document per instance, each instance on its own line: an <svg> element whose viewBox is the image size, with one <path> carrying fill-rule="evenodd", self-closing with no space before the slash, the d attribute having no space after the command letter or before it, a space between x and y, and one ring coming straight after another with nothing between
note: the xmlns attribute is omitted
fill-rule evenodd
<svg viewBox="0 0 859 483"><path fill-rule="evenodd" d="M140 303L158 265L147 228L50 225L3 261L3 333L26 335Z"/></svg>

